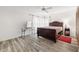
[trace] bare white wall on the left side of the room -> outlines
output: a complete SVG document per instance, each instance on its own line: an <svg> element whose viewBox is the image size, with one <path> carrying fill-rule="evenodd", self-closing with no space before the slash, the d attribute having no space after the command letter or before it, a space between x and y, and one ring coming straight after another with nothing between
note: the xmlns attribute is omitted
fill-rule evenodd
<svg viewBox="0 0 79 59"><path fill-rule="evenodd" d="M0 7L0 41L21 35L21 27L31 17L17 7Z"/></svg>

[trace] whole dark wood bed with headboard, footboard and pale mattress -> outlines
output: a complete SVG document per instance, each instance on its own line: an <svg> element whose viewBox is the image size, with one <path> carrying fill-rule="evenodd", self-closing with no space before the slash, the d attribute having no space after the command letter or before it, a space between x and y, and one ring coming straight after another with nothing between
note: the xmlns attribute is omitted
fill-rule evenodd
<svg viewBox="0 0 79 59"><path fill-rule="evenodd" d="M53 21L49 23L49 26L38 27L37 36L42 36L44 38L50 39L56 43L56 37L59 32L63 31L63 22Z"/></svg>

